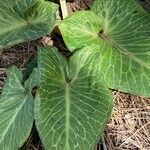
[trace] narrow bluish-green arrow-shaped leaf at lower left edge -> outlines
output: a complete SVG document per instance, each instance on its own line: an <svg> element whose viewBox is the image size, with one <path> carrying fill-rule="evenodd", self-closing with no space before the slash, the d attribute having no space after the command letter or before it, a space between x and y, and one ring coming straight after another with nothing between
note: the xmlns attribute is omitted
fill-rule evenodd
<svg viewBox="0 0 150 150"><path fill-rule="evenodd" d="M34 102L31 89L35 86L34 70L22 86L22 72L11 67L0 97L0 149L17 150L27 140L33 125Z"/></svg>

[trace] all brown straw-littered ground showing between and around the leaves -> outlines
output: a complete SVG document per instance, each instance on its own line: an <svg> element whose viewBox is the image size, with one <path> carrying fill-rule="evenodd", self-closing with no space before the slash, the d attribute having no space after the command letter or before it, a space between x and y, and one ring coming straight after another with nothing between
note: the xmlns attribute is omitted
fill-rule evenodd
<svg viewBox="0 0 150 150"><path fill-rule="evenodd" d="M92 0L74 0L68 3L68 11L89 9ZM146 8L150 6L150 0L141 0ZM54 35L54 42L59 37ZM27 63L37 55L37 44L42 44L39 39L33 42L20 44L7 49L0 55L0 91L4 84L4 68L17 65L25 69ZM59 47L65 49L59 43ZM113 91L114 109L112 117L96 150L150 150L150 99ZM33 131L22 150L42 150L38 134Z"/></svg>

